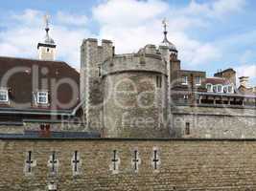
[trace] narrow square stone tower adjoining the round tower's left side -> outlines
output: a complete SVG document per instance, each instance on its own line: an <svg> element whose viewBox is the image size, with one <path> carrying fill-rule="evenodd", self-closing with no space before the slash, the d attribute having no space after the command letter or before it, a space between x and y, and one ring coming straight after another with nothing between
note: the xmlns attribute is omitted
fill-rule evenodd
<svg viewBox="0 0 256 191"><path fill-rule="evenodd" d="M81 100L86 128L103 130L103 80L102 64L113 56L113 45L109 40L88 38L81 44Z"/></svg>

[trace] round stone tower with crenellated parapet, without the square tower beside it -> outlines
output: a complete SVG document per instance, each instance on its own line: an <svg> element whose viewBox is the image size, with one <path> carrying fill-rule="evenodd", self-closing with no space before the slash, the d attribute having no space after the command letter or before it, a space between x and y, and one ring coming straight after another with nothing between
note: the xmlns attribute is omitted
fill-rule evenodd
<svg viewBox="0 0 256 191"><path fill-rule="evenodd" d="M104 62L104 127L112 138L168 138L166 62L154 45Z"/></svg>

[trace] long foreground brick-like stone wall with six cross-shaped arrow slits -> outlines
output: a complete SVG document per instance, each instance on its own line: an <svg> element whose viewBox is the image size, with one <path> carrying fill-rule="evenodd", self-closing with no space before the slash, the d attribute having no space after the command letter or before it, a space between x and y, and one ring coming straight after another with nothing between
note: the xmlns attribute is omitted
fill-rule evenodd
<svg viewBox="0 0 256 191"><path fill-rule="evenodd" d="M1 139L0 190L48 190L53 182L61 191L253 191L255 147L255 139ZM78 173L72 166L75 151ZM55 174L49 163L53 152Z"/></svg>

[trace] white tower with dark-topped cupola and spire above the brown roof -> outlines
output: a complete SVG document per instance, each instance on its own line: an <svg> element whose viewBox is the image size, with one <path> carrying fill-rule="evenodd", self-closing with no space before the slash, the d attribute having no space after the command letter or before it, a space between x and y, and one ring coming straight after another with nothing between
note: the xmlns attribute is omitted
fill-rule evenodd
<svg viewBox="0 0 256 191"><path fill-rule="evenodd" d="M37 44L38 57L41 60L55 60L56 59L56 44L49 35L49 15L44 16L45 21L45 38L42 43Z"/></svg>

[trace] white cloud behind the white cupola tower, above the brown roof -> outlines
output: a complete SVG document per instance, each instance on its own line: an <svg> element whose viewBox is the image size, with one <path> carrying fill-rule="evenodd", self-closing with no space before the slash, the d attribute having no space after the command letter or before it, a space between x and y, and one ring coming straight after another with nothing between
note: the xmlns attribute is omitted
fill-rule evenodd
<svg viewBox="0 0 256 191"><path fill-rule="evenodd" d="M1 55L37 58L36 45L45 35L43 14L44 12L36 10L26 10L20 14L12 13L11 22L16 24L0 32ZM77 15L65 15L64 12L61 12L61 15L70 19L63 23L59 21L59 13L53 15L52 19L57 22L50 25L50 35L58 45L58 59L79 69L81 40L92 34L81 27L69 27ZM81 17L81 20L84 20L84 17ZM81 20L74 21L73 25L80 25Z"/></svg>

